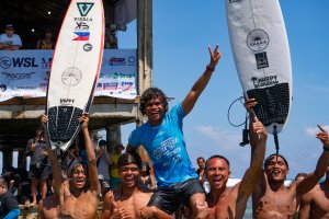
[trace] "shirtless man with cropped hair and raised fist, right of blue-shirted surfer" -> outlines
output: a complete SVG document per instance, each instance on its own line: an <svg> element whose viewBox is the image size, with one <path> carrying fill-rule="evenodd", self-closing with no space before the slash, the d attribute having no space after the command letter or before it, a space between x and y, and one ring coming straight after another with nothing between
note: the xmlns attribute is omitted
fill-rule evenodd
<svg viewBox="0 0 329 219"><path fill-rule="evenodd" d="M247 201L257 184L258 173L262 168L265 155L268 134L260 122L252 124L259 136L252 154L250 168L242 181L234 187L226 187L230 175L229 162L222 155L213 155L206 161L205 174L211 185L207 203L211 209L209 218L243 218Z"/></svg>

